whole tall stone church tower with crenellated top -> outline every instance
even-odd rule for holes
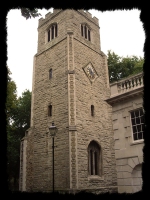
[[[20,190],[117,191],[107,58],[99,22],[83,10],[56,10],[39,20],[31,128],[21,143]]]

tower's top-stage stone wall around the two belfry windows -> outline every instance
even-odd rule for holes
[[[78,38],[81,42],[86,43],[87,45],[100,50],[100,37],[99,37],[99,25],[98,19],[94,19],[92,17],[87,18],[85,12],[79,10],[64,10],[59,11],[59,14],[56,14],[55,17],[52,17],[51,20],[46,20],[42,23],[38,28],[38,49],[37,52],[40,53],[43,50],[48,49],[49,47],[57,44],[62,39],[66,38],[67,31],[71,30],[74,33],[74,36]],[[46,41],[46,30],[52,23],[57,23],[58,25],[58,36],[55,40],[51,42]],[[84,40],[81,36],[81,23],[87,23],[91,28],[91,41]]]

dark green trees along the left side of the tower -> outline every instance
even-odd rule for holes
[[[7,84],[7,173],[8,184],[11,190],[18,189],[20,166],[20,141],[25,131],[30,127],[31,92],[25,90],[17,98],[16,84],[10,77],[8,69]],[[13,180],[13,184],[11,182]],[[15,188],[16,187],[16,188]]]

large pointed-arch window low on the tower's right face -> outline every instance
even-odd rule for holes
[[[89,175],[102,175],[101,147],[95,141],[88,146]]]

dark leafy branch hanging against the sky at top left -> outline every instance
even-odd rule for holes
[[[29,19],[31,17],[38,17],[40,16],[41,14],[38,13],[38,9],[29,9],[29,8],[21,8],[21,14],[23,17],[25,17],[26,19]]]

